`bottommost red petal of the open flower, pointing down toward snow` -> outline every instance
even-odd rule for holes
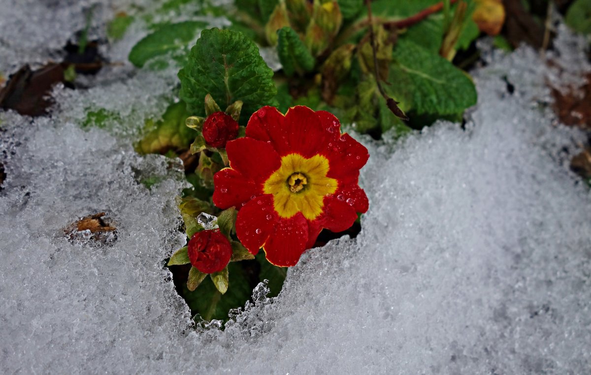
[[[301,213],[280,219],[275,230],[264,245],[267,260],[275,266],[295,266],[306,251],[308,242],[308,222]]]

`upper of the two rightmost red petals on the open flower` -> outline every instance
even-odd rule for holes
[[[369,158],[368,149],[347,133],[340,136],[332,145],[326,145],[322,154],[330,163],[327,176],[336,178],[339,182],[357,182],[359,169]]]

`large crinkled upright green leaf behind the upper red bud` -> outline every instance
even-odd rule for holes
[[[180,97],[198,116],[205,114],[203,99],[208,93],[222,106],[242,100],[246,120],[260,107],[273,105],[277,93],[273,71],[256,45],[233,30],[204,30],[178,77]]]

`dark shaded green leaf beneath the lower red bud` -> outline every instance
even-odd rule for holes
[[[199,314],[203,319],[228,320],[228,311],[233,308],[244,306],[244,303],[251,298],[252,288],[248,281],[242,263],[230,263],[229,288],[225,294],[217,291],[211,278],[206,278],[194,292],[189,292],[186,287],[181,289],[181,294],[192,314]]]

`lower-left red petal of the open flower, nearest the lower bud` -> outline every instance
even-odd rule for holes
[[[277,219],[273,196],[261,195],[246,203],[238,212],[236,236],[249,252],[256,255],[272,233]]]

